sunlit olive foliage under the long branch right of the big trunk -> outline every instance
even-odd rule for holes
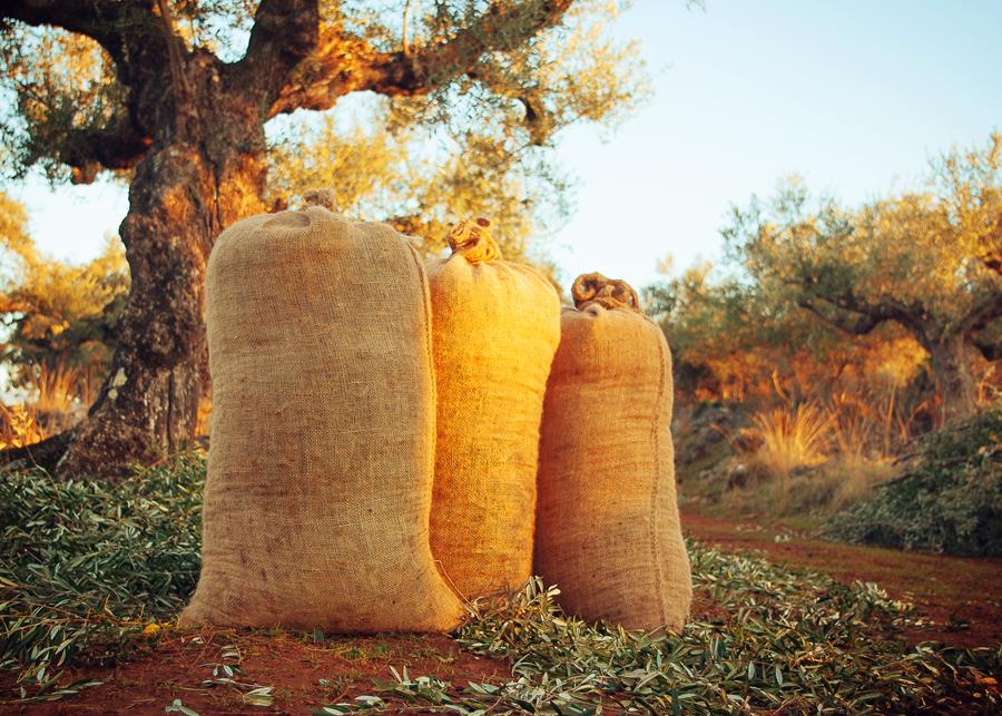
[[[540,259],[532,237],[570,205],[557,133],[580,121],[615,126],[647,95],[638,48],[608,37],[620,10],[572,6],[560,28],[428,96],[369,97],[351,114],[275,126],[273,200],[331,187],[340,209],[389,220],[425,251],[442,249],[453,222],[488,216],[505,256]],[[440,31],[440,18],[424,20],[409,43]]]

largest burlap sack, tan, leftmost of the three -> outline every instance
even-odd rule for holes
[[[183,625],[448,631],[429,543],[423,264],[382,224],[254,216],[206,277],[214,383],[202,578]]]

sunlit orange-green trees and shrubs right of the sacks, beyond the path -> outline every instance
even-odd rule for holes
[[[736,208],[723,265],[647,293],[682,384],[700,399],[855,395],[895,431],[931,403],[962,415],[990,396],[1002,349],[1000,146],[994,135],[950,151],[921,190],[859,207],[793,179]]]

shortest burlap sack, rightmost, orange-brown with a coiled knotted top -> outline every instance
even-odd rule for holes
[[[623,282],[586,274],[572,294],[543,409],[534,570],[583,619],[678,630],[692,585],[668,344]]]

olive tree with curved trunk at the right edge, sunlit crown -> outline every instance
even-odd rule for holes
[[[1000,356],[1002,136],[945,155],[926,190],[846,208],[813,207],[803,184],[735,209],[724,235],[763,295],[839,331],[894,322],[929,353],[946,420],[971,413],[973,352]],[[812,208],[813,207],[813,208]]]

